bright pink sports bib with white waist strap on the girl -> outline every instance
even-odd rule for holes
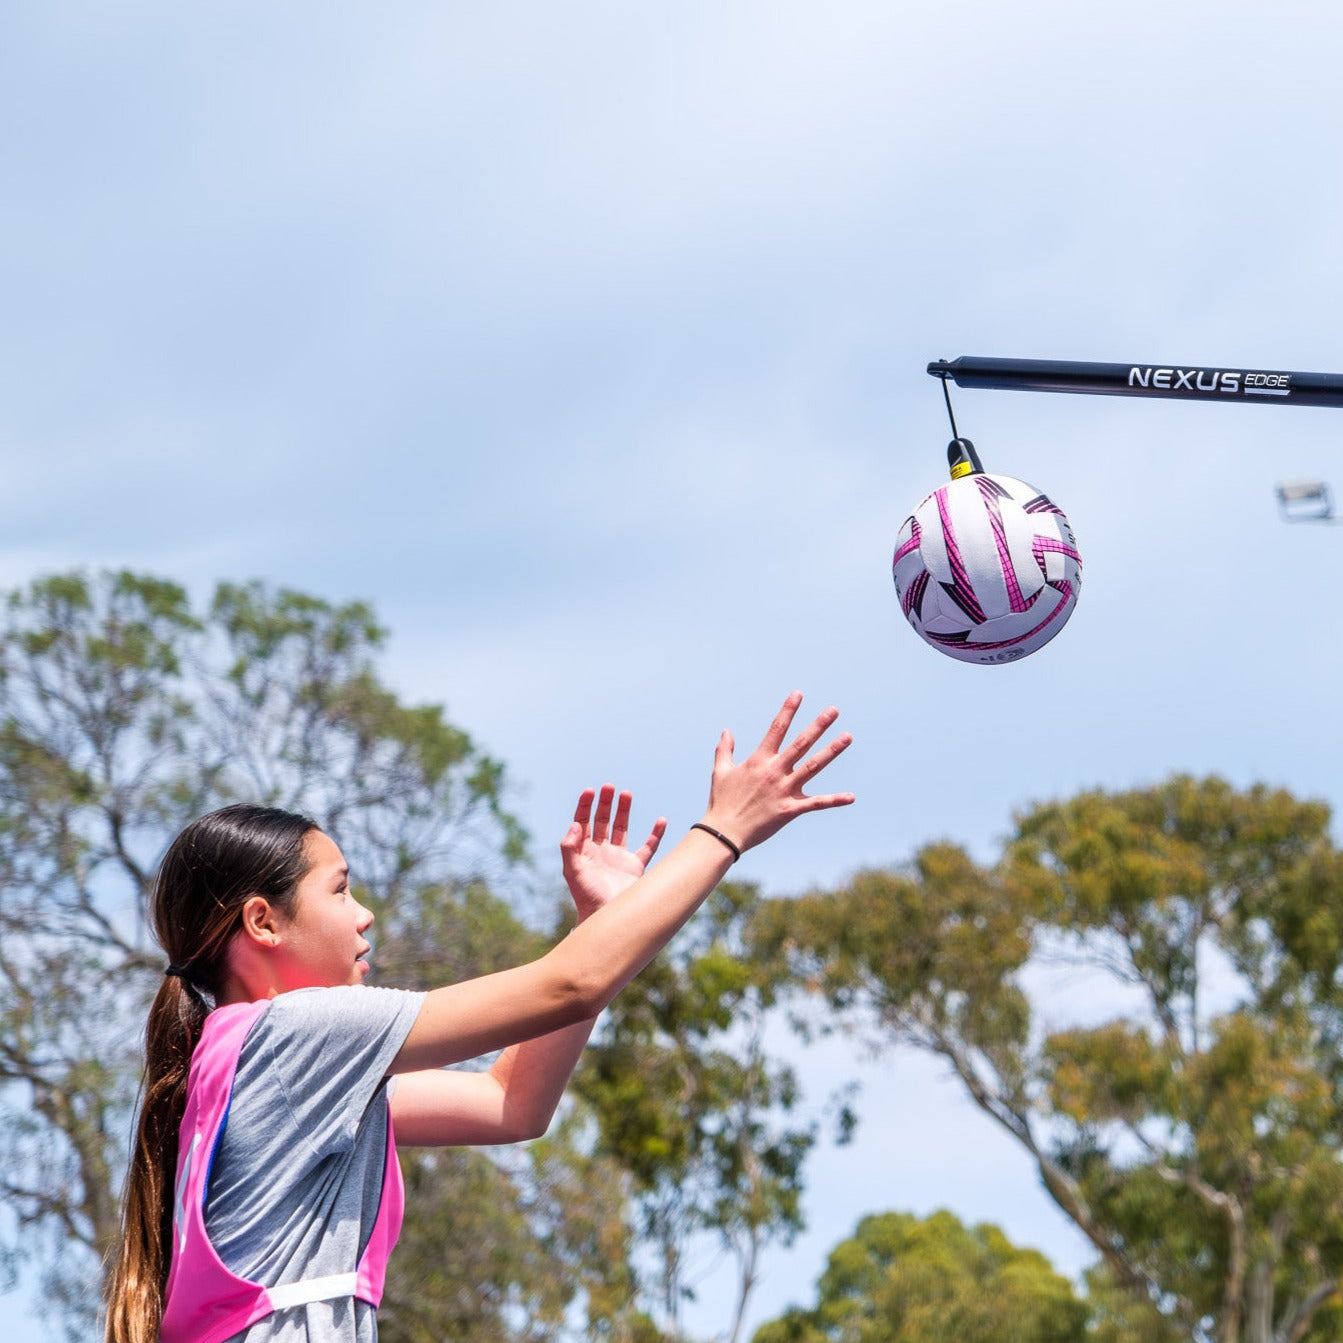
[[[231,1273],[205,1234],[205,1191],[232,1097],[243,1041],[266,1002],[234,1003],[205,1018],[187,1078],[187,1113],[177,1139],[173,1186],[172,1268],[164,1297],[160,1343],[223,1343],[273,1311],[351,1296],[376,1307],[387,1260],[402,1230],[406,1190],[387,1116],[387,1168],[373,1234],[348,1273],[266,1287]]]

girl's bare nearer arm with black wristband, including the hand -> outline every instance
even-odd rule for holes
[[[790,694],[760,745],[740,764],[732,733],[713,757],[700,825],[649,873],[580,923],[539,960],[432,990],[392,1072],[442,1068],[532,1039],[599,1011],[666,945],[733,862],[808,811],[849,806],[851,792],[803,794],[850,744],[841,733],[813,749],[839,716],[826,709],[787,745],[802,704]]]

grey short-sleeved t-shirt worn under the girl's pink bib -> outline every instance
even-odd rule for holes
[[[278,1287],[359,1262],[383,1190],[387,1069],[423,999],[302,988],[251,1029],[205,1195],[205,1229],[231,1272]],[[230,1343],[376,1338],[373,1308],[346,1297],[275,1311]]]

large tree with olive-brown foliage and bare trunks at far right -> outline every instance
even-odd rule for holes
[[[1172,778],[770,901],[757,945],[878,1042],[940,1056],[1109,1279],[1183,1338],[1343,1338],[1343,855],[1328,811]],[[1072,974],[1044,1009],[1027,972]],[[1078,976],[1086,976],[1086,988]],[[1107,990],[1108,986],[1108,990]],[[1119,1005],[1101,1021],[1068,1003]]]

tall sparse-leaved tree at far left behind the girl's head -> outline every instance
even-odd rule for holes
[[[361,603],[262,584],[220,584],[199,610],[163,579],[67,573],[4,602],[4,1254],[42,1272],[73,1338],[91,1332],[90,1284],[117,1241],[140,1037],[163,972],[146,886],[187,819],[242,798],[313,815],[384,911],[384,972],[400,956],[414,976],[426,947],[442,972],[431,911],[441,932],[451,919],[474,929],[453,943],[451,972],[488,968],[517,931],[485,885],[524,846],[502,770],[441,708],[381,684],[383,638]]]

